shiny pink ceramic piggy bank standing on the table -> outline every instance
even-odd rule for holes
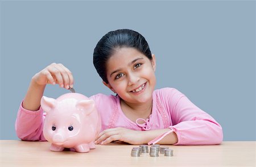
[[[79,93],[67,93],[57,99],[42,97],[46,112],[43,134],[51,143],[51,151],[64,148],[89,152],[101,130],[101,118],[95,102]]]

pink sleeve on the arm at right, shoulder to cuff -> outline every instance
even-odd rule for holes
[[[222,128],[199,107],[194,105],[184,94],[176,89],[171,89],[168,94],[168,107],[173,126],[177,134],[176,145],[207,145],[220,144],[223,139]],[[165,93],[170,91],[165,91]]]

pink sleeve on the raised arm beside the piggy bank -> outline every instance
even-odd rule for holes
[[[23,102],[22,102],[23,103]],[[26,110],[20,104],[16,122],[15,131],[19,139],[28,141],[46,141],[43,136],[44,117],[43,109],[38,111]]]

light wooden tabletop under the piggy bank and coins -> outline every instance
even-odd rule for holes
[[[173,157],[131,157],[138,146],[123,143],[96,145],[89,153],[52,152],[47,141],[0,140],[0,145],[0,166],[256,166],[256,141],[164,145],[174,149]]]

